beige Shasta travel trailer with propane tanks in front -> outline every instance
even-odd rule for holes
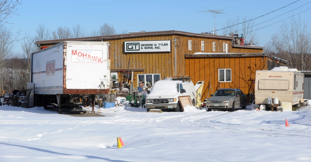
[[[268,97],[277,97],[281,104],[284,102],[300,106],[304,100],[304,74],[297,70],[291,71],[288,67],[274,69],[279,71],[256,71],[255,104],[270,107]]]

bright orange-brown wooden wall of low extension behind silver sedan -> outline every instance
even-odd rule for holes
[[[186,75],[193,78],[193,82],[205,81],[202,101],[219,88],[239,88],[245,94],[254,92],[252,79],[255,79],[256,70],[266,70],[265,56],[248,57],[187,57]],[[232,82],[218,82],[218,69],[231,69]]]

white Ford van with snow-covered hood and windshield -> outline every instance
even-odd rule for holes
[[[190,79],[164,79],[154,83],[147,96],[146,108],[182,111],[179,96],[190,96],[193,106],[196,105],[196,89]]]

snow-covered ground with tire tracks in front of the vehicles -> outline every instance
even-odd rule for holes
[[[100,112],[75,117],[0,106],[0,161],[311,161],[310,105],[283,112]]]

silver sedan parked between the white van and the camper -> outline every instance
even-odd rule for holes
[[[247,97],[237,88],[218,89],[211,97],[206,100],[207,111],[212,109],[230,109],[242,107],[246,109]]]

